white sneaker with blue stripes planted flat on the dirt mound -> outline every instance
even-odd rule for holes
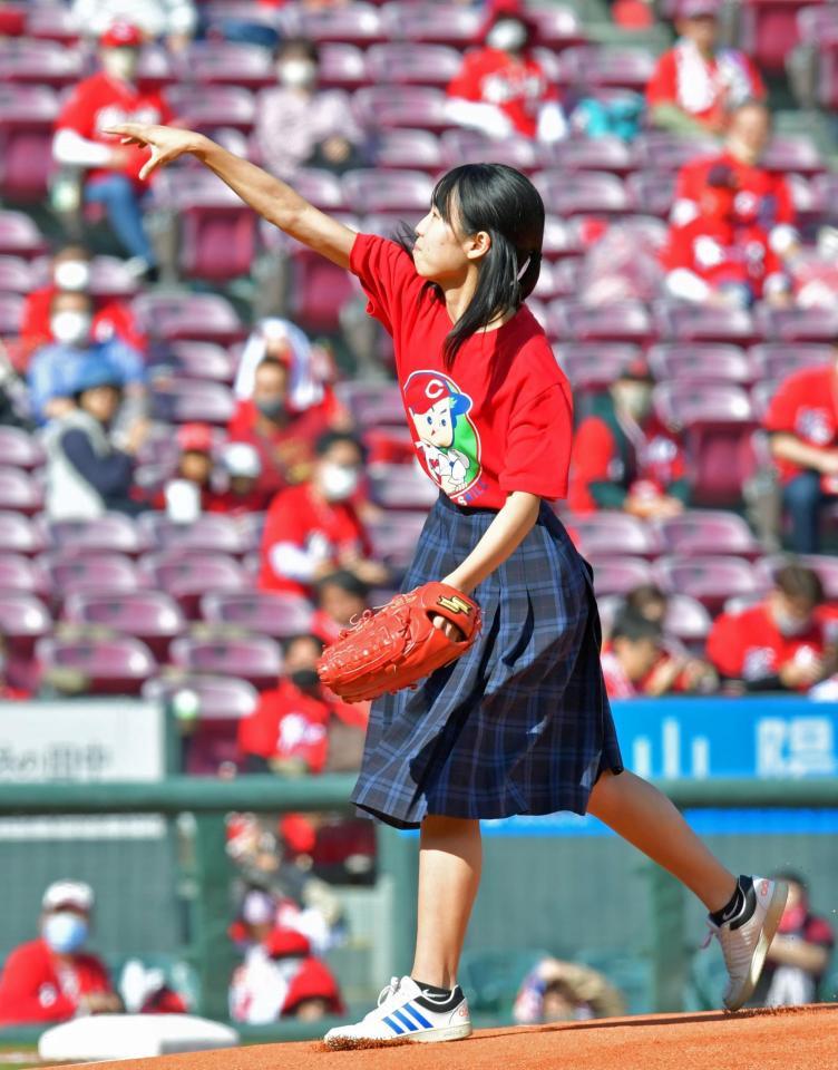
[[[412,977],[393,977],[381,990],[374,1011],[355,1025],[330,1029],[323,1040],[330,1048],[362,1048],[370,1042],[462,1040],[471,1033],[468,1003],[459,985],[444,1010],[435,1009],[435,1002],[439,1001],[423,993]]]

